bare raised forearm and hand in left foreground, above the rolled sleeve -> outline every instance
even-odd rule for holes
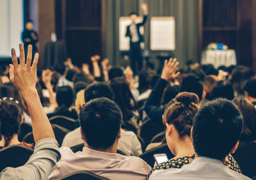
[[[13,85],[19,89],[22,97],[28,106],[28,111],[32,119],[33,138],[37,142],[42,138],[55,138],[51,124],[45,115],[39,95],[36,91],[36,67],[39,54],[35,54],[33,65],[32,45],[28,45],[27,62],[25,63],[25,52],[23,44],[19,44],[19,62],[16,57],[16,51],[12,49],[13,65],[10,65],[10,80]]]

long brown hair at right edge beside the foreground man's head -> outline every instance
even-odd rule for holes
[[[256,109],[246,98],[236,97],[232,100],[243,114],[243,131],[241,141],[256,139]]]

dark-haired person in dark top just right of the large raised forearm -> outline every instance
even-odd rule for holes
[[[48,114],[48,118],[52,118],[56,115],[63,115],[68,118],[77,120],[77,112],[72,109],[74,102],[74,90],[70,86],[61,86],[57,89],[56,100],[58,107],[54,113]]]

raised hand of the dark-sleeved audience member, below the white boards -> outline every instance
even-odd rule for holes
[[[161,71],[161,79],[168,81],[178,77],[179,72],[176,72],[178,69],[178,65],[179,65],[179,62],[176,60],[176,58],[174,59],[170,58],[169,61],[165,60],[163,71]]]

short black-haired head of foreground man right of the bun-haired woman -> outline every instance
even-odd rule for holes
[[[243,115],[234,103],[216,99],[202,106],[193,120],[193,147],[197,155],[223,160],[240,138]]]

